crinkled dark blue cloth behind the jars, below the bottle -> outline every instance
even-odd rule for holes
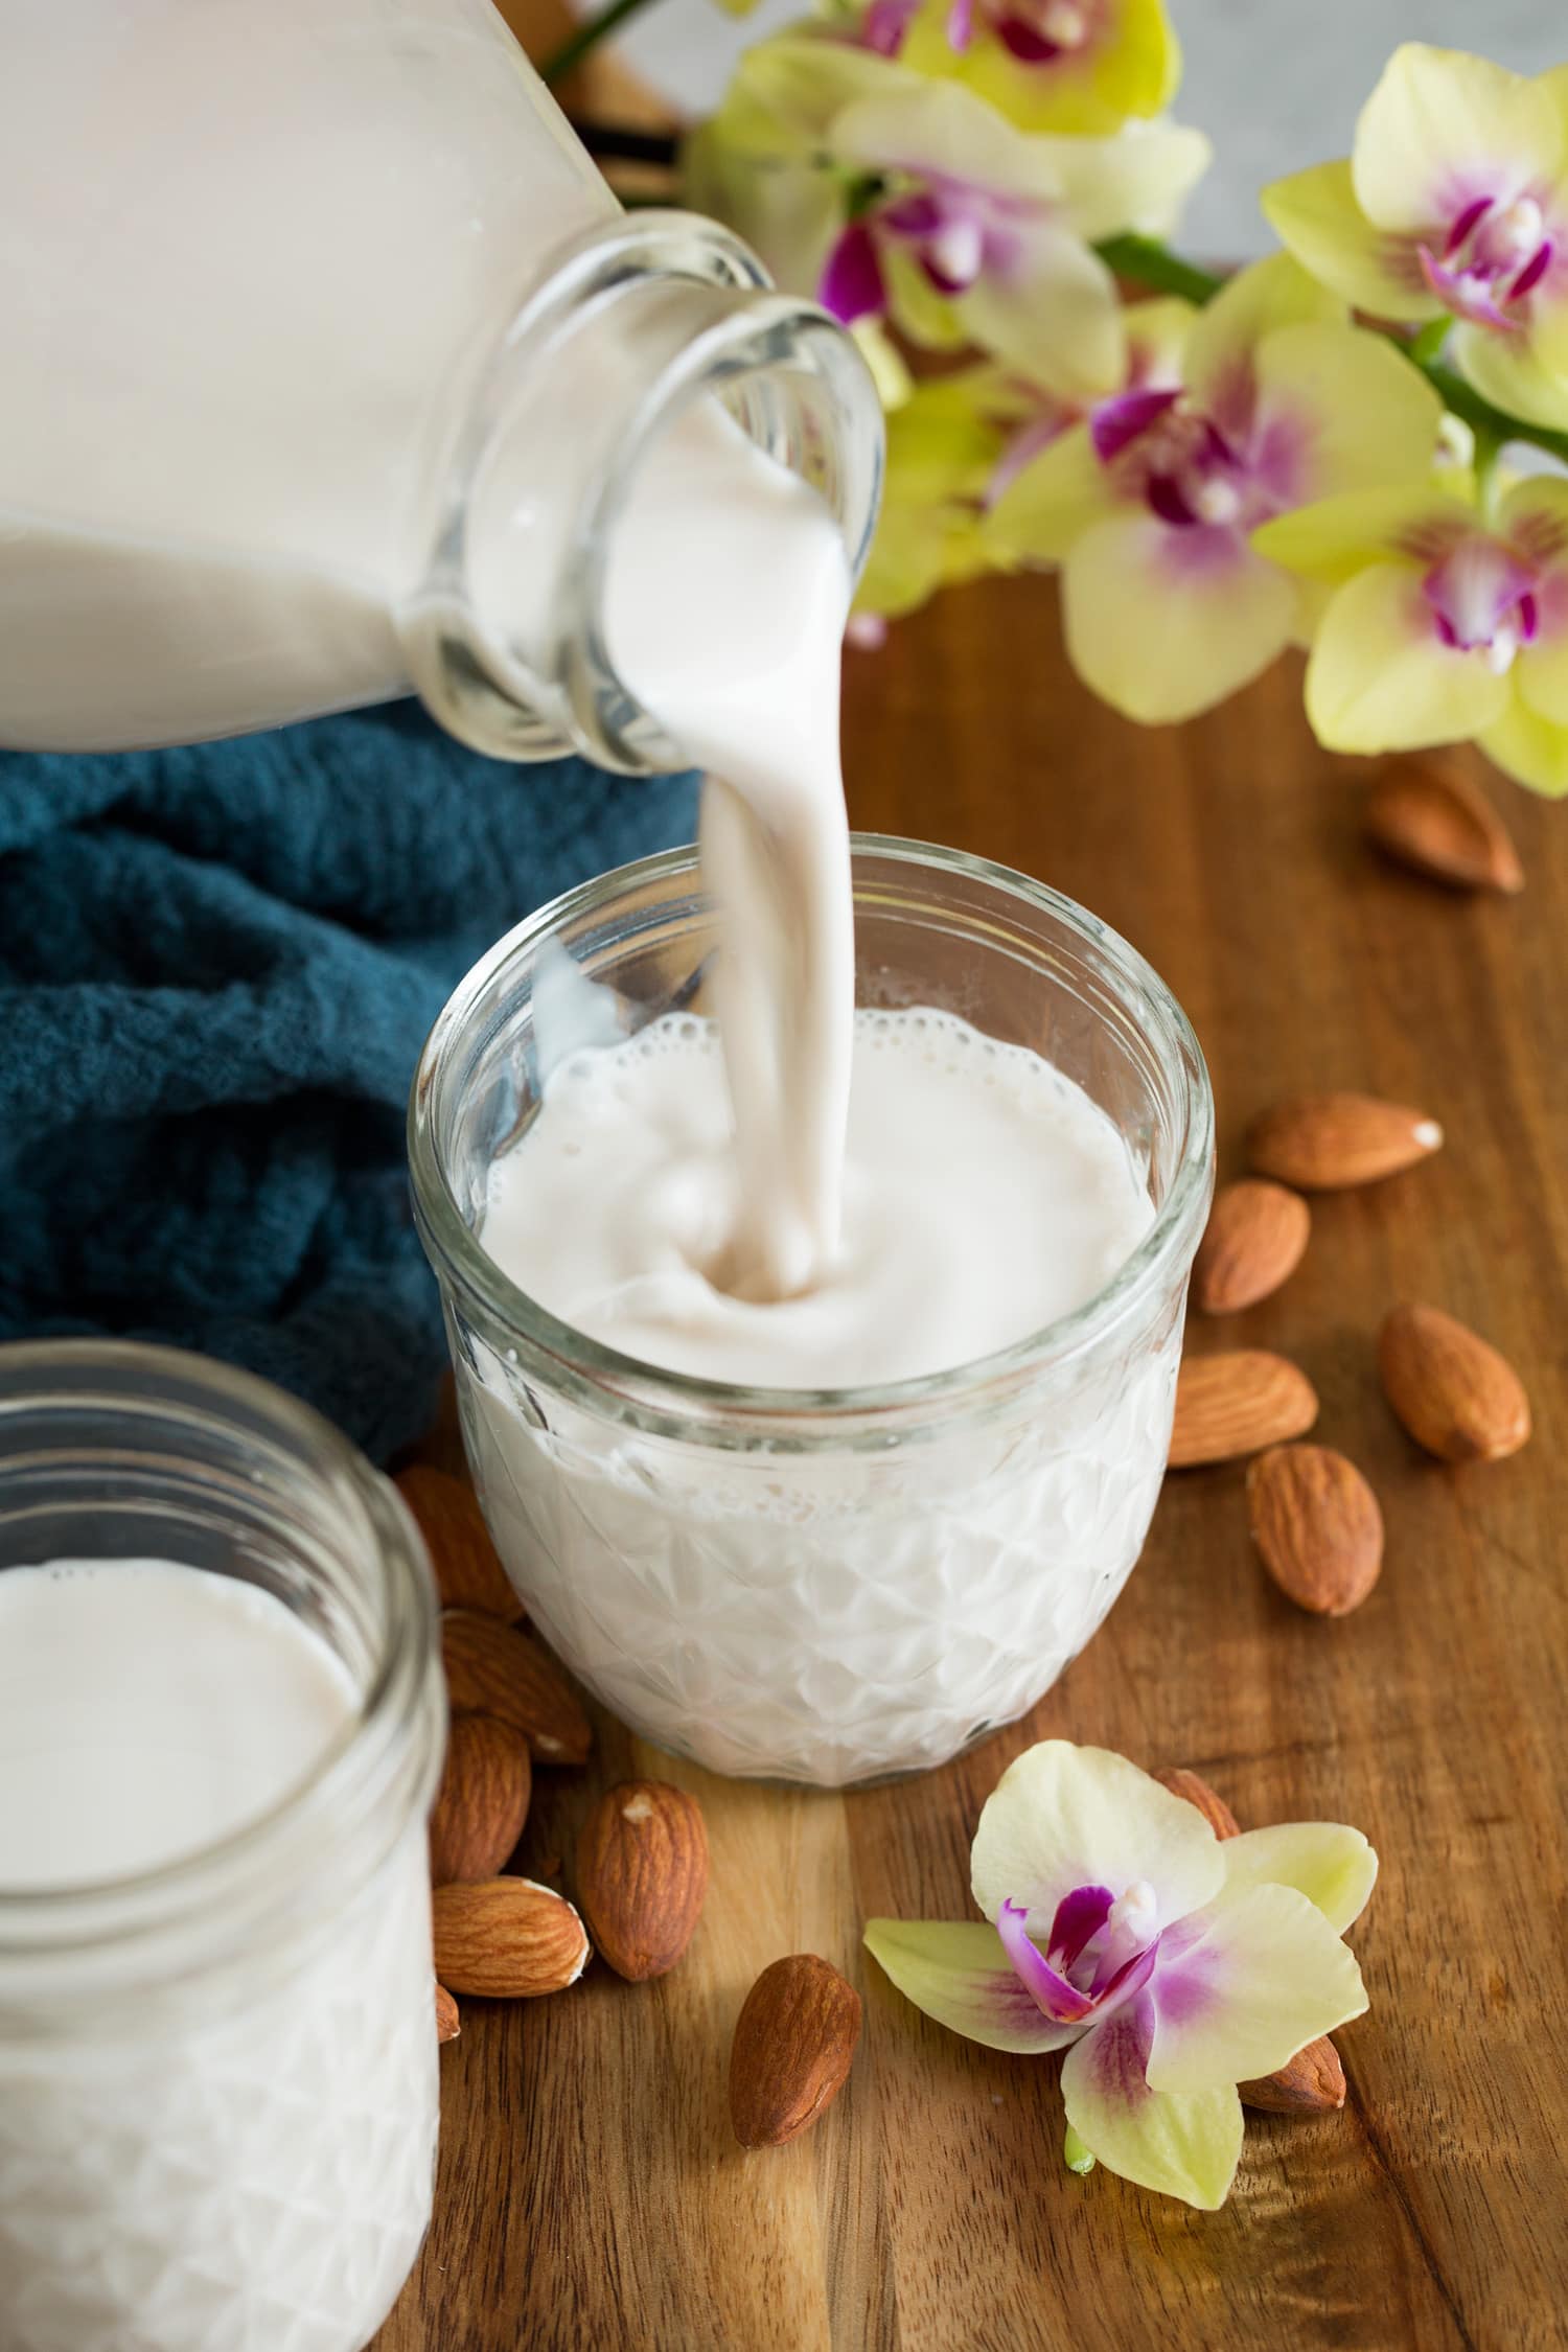
[[[200,1348],[378,1461],[411,1442],[444,1362],[423,1035],[512,922],[693,821],[691,776],[482,760],[414,703],[0,753],[0,1338]]]

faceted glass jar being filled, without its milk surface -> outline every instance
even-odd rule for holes
[[[844,1785],[1023,1715],[1121,1590],[1171,1439],[1213,1105],[1166,985],[1056,891],[856,837],[856,993],[1034,1047],[1114,1120],[1157,1207],[1074,1315],[933,1378],[752,1390],[559,1324],[484,1254],[487,1171],[541,1096],[534,976],[569,953],[628,1030],[703,1009],[696,851],[520,924],[461,983],[409,1112],[463,1439],[512,1583],[567,1665],[661,1748]]]

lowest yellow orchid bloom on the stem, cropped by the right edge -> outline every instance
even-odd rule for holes
[[[1528,477],[1490,510],[1420,487],[1328,499],[1258,548],[1328,590],[1307,717],[1331,750],[1474,736],[1568,793],[1568,482]]]

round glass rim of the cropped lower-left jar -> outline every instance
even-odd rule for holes
[[[176,1929],[200,1907],[202,1889],[212,1879],[247,1870],[252,1858],[266,1858],[296,1830],[308,1832],[313,1816],[327,1825],[341,1818],[341,1806],[367,1804],[367,1785],[378,1764],[418,1722],[437,1628],[423,1543],[402,1498],[390,1479],[383,1479],[360,1449],[301,1397],[193,1348],[148,1341],[9,1341],[0,1345],[0,1383],[12,1374],[28,1381],[28,1390],[0,1392],[0,1430],[14,1414],[33,1416],[66,1406],[158,1414],[188,1428],[205,1425],[252,1437],[252,1423],[240,1418],[240,1409],[247,1409],[266,1432],[259,1442],[282,1439],[296,1451],[306,1475],[320,1477],[322,1484],[343,1479],[353,1491],[367,1515],[367,1534],[388,1585],[388,1609],[364,1691],[357,1693],[343,1731],[310,1771],[263,1813],[143,1870],[47,1886],[0,1882],[0,1969]],[[85,1385],[71,1381],[71,1374],[99,1378]],[[129,1385],[136,1374],[143,1381],[150,1376],[148,1388]],[[2,1482],[5,1456],[0,1456],[0,1491]],[[5,1573],[0,1569],[0,1576]],[[21,1929],[24,1938],[12,1940],[9,1929]],[[49,1933],[52,1929],[59,1933]],[[87,1933],[80,1933],[82,1929]]]

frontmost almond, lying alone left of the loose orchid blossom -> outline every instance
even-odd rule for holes
[[[729,2114],[741,2147],[783,2147],[844,2089],[860,2039],[860,1994],[816,1952],[764,1969],[729,2053]]]

